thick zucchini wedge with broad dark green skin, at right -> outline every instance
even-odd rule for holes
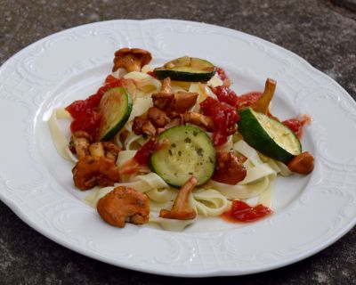
[[[251,108],[240,111],[239,116],[239,133],[265,156],[287,162],[302,152],[295,133],[279,121]]]

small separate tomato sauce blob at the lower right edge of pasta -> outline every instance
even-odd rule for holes
[[[231,209],[221,216],[225,221],[231,223],[250,223],[263,219],[271,213],[273,213],[271,208],[262,204],[251,207],[246,202],[237,199],[232,202]]]

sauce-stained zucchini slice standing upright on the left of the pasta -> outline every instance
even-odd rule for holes
[[[117,134],[125,126],[132,109],[131,96],[124,87],[109,89],[102,96],[99,104],[99,110],[101,111],[99,140],[109,141]]]

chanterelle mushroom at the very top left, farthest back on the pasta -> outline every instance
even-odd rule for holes
[[[148,64],[151,59],[150,52],[146,50],[124,47],[115,53],[112,71],[114,72],[119,68],[126,69],[127,72],[140,71],[142,66]]]

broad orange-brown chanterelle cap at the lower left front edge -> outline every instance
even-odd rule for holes
[[[98,201],[97,210],[101,218],[112,225],[123,228],[125,221],[146,224],[150,218],[147,196],[133,188],[118,186]]]

